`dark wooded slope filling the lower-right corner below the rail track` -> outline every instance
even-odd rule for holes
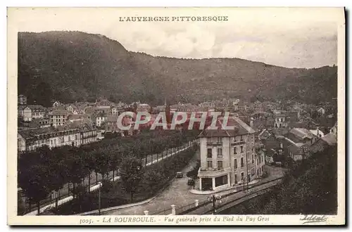
[[[337,147],[298,162],[273,191],[221,214],[337,214]]]

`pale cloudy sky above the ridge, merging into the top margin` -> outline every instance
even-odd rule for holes
[[[243,58],[283,67],[337,64],[341,8],[17,8],[19,32],[103,34],[128,51],[175,58]],[[218,22],[121,22],[134,16],[227,16]]]

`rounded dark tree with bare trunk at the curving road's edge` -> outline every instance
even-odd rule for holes
[[[133,202],[133,195],[136,193],[139,182],[142,181],[144,168],[141,160],[132,154],[122,157],[120,165],[120,176],[122,186],[131,195],[131,202]]]

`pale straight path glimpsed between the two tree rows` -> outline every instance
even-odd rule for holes
[[[196,140],[193,141],[193,142],[196,142]],[[165,159],[167,159],[168,157],[171,157],[171,156],[176,155],[176,154],[178,154],[178,153],[180,153],[180,152],[182,152],[182,151],[184,151],[184,150],[187,150],[188,148],[191,148],[191,146],[193,146],[193,144],[191,144],[190,146],[187,146],[187,147],[185,147],[185,148],[180,148],[179,150],[175,151],[174,153],[170,153],[168,156],[163,155],[163,158],[161,158],[161,155],[158,155],[158,160],[155,159],[155,160],[153,160],[153,162],[147,163],[146,166],[150,166],[150,165],[152,165],[152,164],[154,164],[154,163],[156,163],[156,162],[160,162],[161,160],[165,160]],[[156,156],[156,155],[155,155],[155,156]],[[150,159],[150,160],[151,160],[151,159]],[[111,172],[111,173],[112,173],[112,172]],[[95,176],[95,175],[94,175],[94,176]],[[120,179],[120,176],[115,176],[115,177],[114,177],[114,180],[118,180],[118,179]],[[111,179],[111,181],[113,181],[113,179]],[[92,184],[92,183],[94,183],[94,182],[91,181],[91,184]],[[97,184],[95,184],[95,185],[93,185],[93,186],[90,187],[90,191],[95,191],[96,189],[99,189],[100,187],[101,187],[101,182],[99,181]],[[61,200],[58,200],[58,205],[63,205],[65,202],[69,202],[69,201],[71,201],[71,200],[73,200],[73,196],[72,196],[72,195],[70,195],[70,196],[68,196],[68,197],[66,197],[66,198],[63,198],[63,199],[61,199]],[[49,204],[49,205],[46,205],[46,206],[44,206],[44,207],[41,207],[40,210],[39,210],[39,212],[42,213],[42,212],[45,212],[46,210],[50,210],[51,208],[54,208],[54,207],[56,207],[56,203],[55,203],[55,202],[54,202],[54,203],[51,203],[51,204]],[[37,215],[37,212],[38,212],[38,210],[33,210],[32,212],[30,212],[30,213],[28,213],[28,214],[25,214],[25,216]]]

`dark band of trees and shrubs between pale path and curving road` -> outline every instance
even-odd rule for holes
[[[81,193],[72,202],[52,209],[51,212],[57,215],[72,215],[97,210],[99,205],[103,209],[151,198],[170,184],[176,172],[188,165],[197,149],[195,143],[191,148],[148,167],[144,167],[136,157],[126,155],[121,160],[118,181],[105,179],[100,194]]]

